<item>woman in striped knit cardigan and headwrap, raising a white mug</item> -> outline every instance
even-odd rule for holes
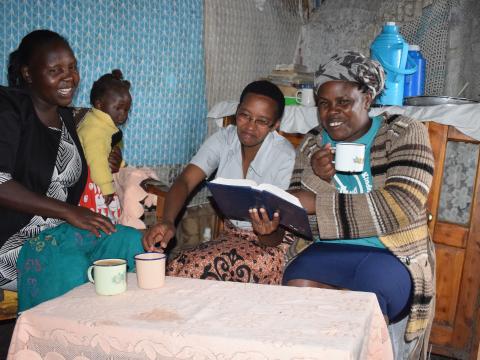
[[[380,64],[355,52],[333,56],[316,72],[320,126],[300,145],[290,191],[315,214],[317,236],[290,262],[283,283],[375,293],[387,322],[405,326],[400,338],[410,351],[394,349],[398,358],[418,359],[434,315],[435,255],[425,208],[433,155],[420,122],[369,117],[383,86]],[[340,142],[365,146],[363,171],[335,169],[332,147]],[[257,232],[281,238],[281,230],[262,231],[261,223],[252,223]]]

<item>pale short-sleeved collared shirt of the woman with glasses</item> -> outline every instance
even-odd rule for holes
[[[210,136],[200,147],[190,164],[198,166],[209,177],[243,179],[242,151],[237,127],[230,125]],[[287,189],[290,184],[295,150],[283,136],[270,132],[247,170],[247,179],[257,184],[267,183]],[[249,222],[235,222],[242,228],[251,228]]]

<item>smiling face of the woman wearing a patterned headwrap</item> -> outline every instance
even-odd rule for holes
[[[335,141],[355,141],[370,129],[370,94],[347,81],[328,81],[318,89],[317,107],[322,127]]]

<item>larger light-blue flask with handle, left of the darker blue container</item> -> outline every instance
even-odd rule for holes
[[[375,103],[381,105],[403,105],[405,75],[417,71],[417,66],[408,57],[408,44],[400,35],[394,22],[387,22],[382,32],[370,46],[371,58],[382,64],[385,73],[385,89]],[[407,68],[407,62],[409,67]]]

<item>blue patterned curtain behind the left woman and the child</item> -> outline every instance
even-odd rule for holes
[[[206,132],[201,0],[3,0],[2,84],[8,54],[28,32],[64,35],[82,77],[75,105],[114,68],[132,83],[124,157],[132,165],[188,162]]]

